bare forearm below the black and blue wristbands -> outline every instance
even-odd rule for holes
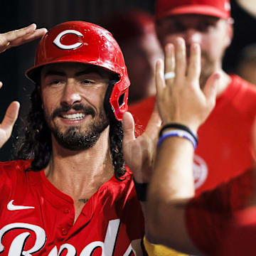
[[[194,196],[193,145],[187,139],[169,137],[156,156],[146,206],[146,235],[183,252],[197,252],[186,233],[184,212]]]

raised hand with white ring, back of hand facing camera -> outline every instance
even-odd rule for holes
[[[193,43],[187,63],[186,45],[177,38],[175,45],[166,46],[165,67],[156,62],[156,102],[164,124],[177,122],[197,132],[215,106],[215,97],[220,74],[214,73],[201,90],[201,48]],[[175,74],[164,78],[164,73]]]

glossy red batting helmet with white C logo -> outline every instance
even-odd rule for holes
[[[110,105],[117,120],[128,110],[129,78],[122,51],[105,28],[85,21],[68,21],[53,27],[41,39],[36,50],[35,65],[26,76],[36,82],[38,70],[50,63],[75,62],[96,65],[119,75]],[[121,101],[121,102],[120,102]]]

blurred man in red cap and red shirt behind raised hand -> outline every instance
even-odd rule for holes
[[[212,73],[222,75],[215,108],[198,129],[201,143],[195,152],[193,174],[199,194],[251,166],[250,131],[256,114],[256,89],[222,69],[223,53],[233,36],[228,0],[157,0],[155,18],[163,48],[181,37],[186,41],[189,58],[191,44],[201,46],[202,88]],[[144,131],[153,107],[154,97],[130,107],[138,134]]]

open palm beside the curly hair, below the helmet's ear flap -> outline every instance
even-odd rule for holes
[[[160,126],[161,119],[155,105],[145,132],[135,138],[132,114],[129,112],[124,113],[124,160],[125,164],[133,172],[134,178],[138,183],[147,183],[150,181]]]

